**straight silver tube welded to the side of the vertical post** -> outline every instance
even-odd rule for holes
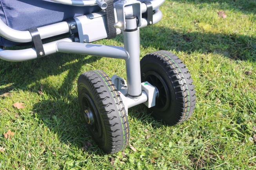
[[[89,43],[59,42],[56,45],[58,52],[95,55],[117,59],[129,59],[129,54],[123,47],[111,45],[98,45]]]

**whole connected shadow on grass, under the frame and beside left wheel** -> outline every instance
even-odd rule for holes
[[[42,90],[47,98],[33,105],[32,111],[38,119],[52,132],[57,134],[60,141],[71,144],[76,148],[88,149],[88,152],[101,155],[102,151],[96,146],[87,133],[87,129],[79,114],[77,96],[73,96],[74,81],[83,67],[101,57],[86,57],[85,55],[71,55],[56,53],[39,59],[23,62],[0,61],[0,95],[13,89],[28,90],[37,93]],[[91,67],[91,66],[89,66]],[[87,68],[84,68],[86,70]],[[44,79],[65,73],[65,78],[58,81],[44,81]],[[64,76],[62,76],[64,77]],[[53,77],[53,79],[56,79]],[[41,84],[41,82],[43,82]],[[56,82],[56,84],[54,84]],[[61,82],[61,84],[58,84]],[[91,147],[95,147],[90,149]],[[91,150],[91,151],[90,151]]]

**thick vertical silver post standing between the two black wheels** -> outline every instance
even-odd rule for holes
[[[142,95],[140,78],[140,34],[135,15],[125,16],[126,29],[123,31],[123,43],[129,53],[126,60],[128,97],[137,98]]]

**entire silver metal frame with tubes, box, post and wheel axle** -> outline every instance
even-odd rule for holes
[[[60,3],[65,2],[65,4],[68,5],[77,5],[73,4],[74,0],[53,1]],[[99,1],[103,3],[102,0],[89,1],[90,3],[96,3]],[[75,0],[75,2],[79,3],[89,3],[89,1]],[[153,15],[153,24],[157,23],[162,18],[162,12],[157,8],[162,5],[163,2],[165,2],[165,0],[151,1],[153,10],[155,10]],[[127,110],[129,107],[133,107],[141,103],[145,103],[147,107],[152,107],[158,97],[158,90],[149,83],[142,83],[140,77],[139,29],[148,25],[147,19],[142,18],[142,13],[145,13],[146,11],[147,5],[137,0],[119,0],[116,2],[116,8],[114,9],[116,20],[115,26],[118,27],[116,29],[117,34],[123,33],[124,47],[89,44],[92,41],[107,38],[105,12],[100,11],[98,13],[74,18],[78,27],[80,43],[72,42],[71,38],[64,38],[51,43],[46,43],[43,45],[45,55],[64,52],[125,59],[127,88],[123,88],[121,90],[118,89],[120,90],[121,97],[125,104],[125,109]],[[68,33],[71,29],[71,26],[69,26],[66,21],[37,28],[42,39]],[[5,25],[2,20],[0,20],[0,36],[19,43],[32,41],[32,36],[29,31],[11,29]],[[5,50],[0,48],[0,59],[7,61],[25,61],[36,59],[37,56],[35,48],[24,50]],[[116,79],[119,79],[119,77],[116,77]]]

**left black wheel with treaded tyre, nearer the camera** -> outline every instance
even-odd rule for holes
[[[109,76],[101,70],[78,78],[78,102],[89,133],[106,154],[124,149],[129,123],[122,98]]]

